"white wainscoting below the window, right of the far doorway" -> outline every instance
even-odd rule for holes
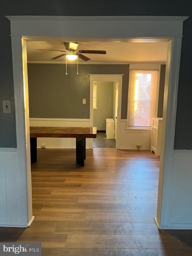
[[[151,130],[127,130],[127,120],[122,119],[120,125],[120,149],[137,149],[136,144],[141,145],[141,150],[149,150],[151,146]]]

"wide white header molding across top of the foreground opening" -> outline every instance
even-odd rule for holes
[[[6,16],[12,36],[60,36],[82,38],[182,37],[188,17],[174,16]],[[41,24],[41,26],[39,26]],[[86,28],[86,30],[84,29]],[[112,36],[113,35],[113,36]],[[66,38],[66,39],[64,39]]]

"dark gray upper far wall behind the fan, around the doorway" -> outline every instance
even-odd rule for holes
[[[127,116],[129,65],[28,64],[30,117],[89,118],[89,74],[124,74],[121,118]],[[86,104],[82,99],[86,98]]]

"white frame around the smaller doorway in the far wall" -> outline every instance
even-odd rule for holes
[[[120,125],[121,125],[121,98],[123,74],[89,74],[90,75],[90,126],[93,126],[93,82],[118,82],[118,110],[117,110],[117,139],[116,148],[120,148]],[[90,140],[90,148],[93,148],[93,140]]]

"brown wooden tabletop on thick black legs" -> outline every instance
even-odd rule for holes
[[[38,127],[30,126],[30,137],[96,138],[96,127]]]

